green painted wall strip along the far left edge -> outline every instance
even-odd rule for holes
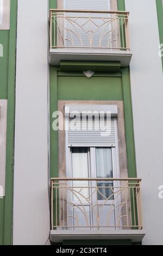
[[[5,198],[0,199],[0,245],[12,243],[17,0],[11,0],[10,30],[0,31],[0,99],[8,99]]]

